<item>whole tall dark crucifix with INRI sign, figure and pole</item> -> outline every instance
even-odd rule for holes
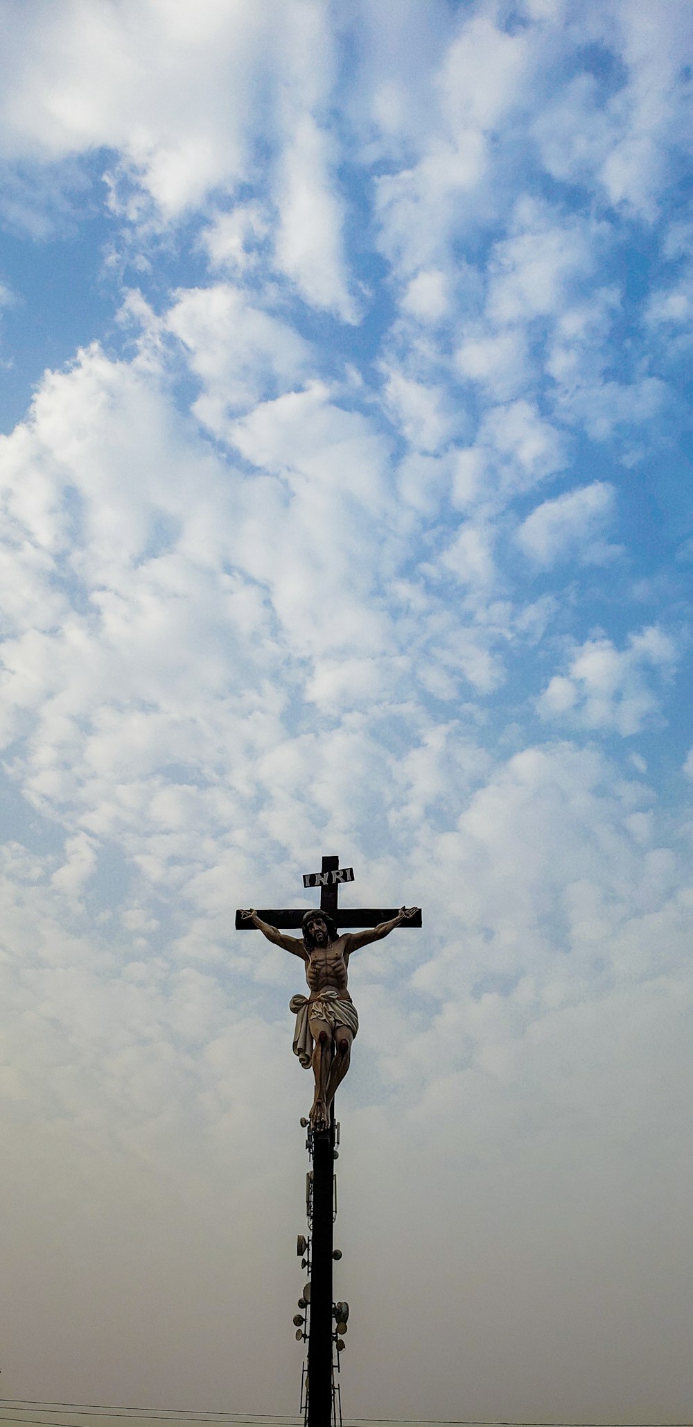
[[[349,1067],[351,1045],[358,1030],[356,1009],[346,989],[349,956],[361,946],[389,936],[398,926],[421,926],[419,908],[341,908],[339,886],[348,882],[354,882],[352,869],[339,868],[337,856],[324,856],[321,872],[304,873],[304,886],[319,886],[319,908],[272,908],[262,912],[251,909],[235,913],[238,932],[255,928],[275,946],[282,946],[301,958],[309,987],[309,996],[292,996],[289,1002],[289,1009],[297,1017],[294,1053],[305,1069],[312,1067],[315,1077],[309,1120],[301,1120],[304,1126],[308,1124],[308,1152],[312,1159],[308,1196],[311,1279],[307,1284],[309,1290],[307,1427],[329,1427],[337,1417],[332,1340],[337,1341],[338,1350],[344,1347],[332,1333],[337,1157],[334,1097]],[[301,928],[302,936],[285,936],[289,928]],[[341,932],[341,928],[359,928],[359,930]],[[301,1299],[301,1304],[307,1306],[307,1300]],[[304,1336],[301,1330],[297,1333],[297,1337],[299,1336]]]

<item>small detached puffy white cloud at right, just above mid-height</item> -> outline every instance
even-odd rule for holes
[[[652,625],[629,635],[625,649],[607,638],[587,639],[538,699],[542,718],[568,718],[586,729],[627,738],[660,718],[662,701],[652,674],[666,679],[676,666],[673,639]]]

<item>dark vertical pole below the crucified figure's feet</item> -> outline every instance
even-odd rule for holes
[[[308,1336],[308,1427],[332,1423],[332,1229],[335,1110],[329,1130],[312,1136],[311,1324]]]

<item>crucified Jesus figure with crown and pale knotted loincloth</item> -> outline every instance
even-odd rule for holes
[[[305,965],[309,996],[292,996],[289,1010],[295,1013],[294,1055],[301,1065],[312,1066],[315,1096],[311,1109],[314,1130],[329,1127],[329,1107],[337,1086],[349,1069],[351,1043],[358,1030],[356,1007],[346,990],[349,956],[369,942],[389,936],[402,922],[415,916],[418,908],[402,906],[391,922],[366,932],[344,932],[341,936],[328,912],[307,912],[302,936],[285,936],[275,926],[262,922],[255,910],[242,912],[247,922],[275,946],[284,946]]]

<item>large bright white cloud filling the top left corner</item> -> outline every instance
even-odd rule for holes
[[[6,151],[56,158],[120,148],[154,201],[175,214],[242,176],[248,78],[278,20],[279,11],[225,11],[214,0],[200,6],[195,26],[180,7],[151,0],[101,11],[70,0],[51,16],[30,7],[21,23],[14,17],[20,63],[4,93]]]

